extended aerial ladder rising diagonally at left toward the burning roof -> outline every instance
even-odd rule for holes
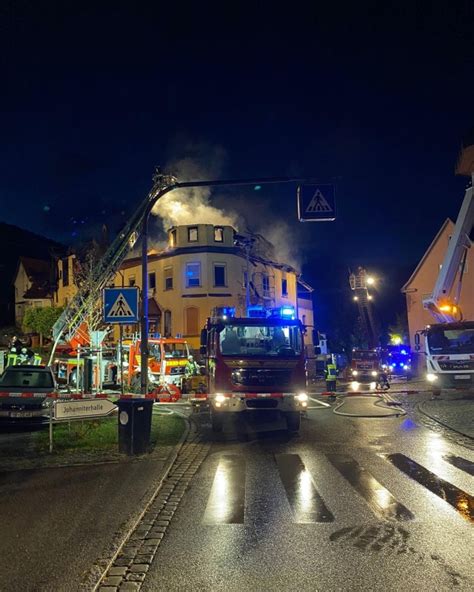
[[[60,339],[63,338],[67,341],[71,341],[81,332],[81,326],[84,325],[88,311],[90,311],[91,308],[98,306],[102,289],[113,280],[120,265],[125,259],[125,256],[136,243],[145,216],[148,216],[150,206],[156,200],[157,195],[165,187],[172,187],[176,183],[177,180],[174,176],[164,175],[159,169],[157,169],[153,176],[153,187],[151,191],[132,214],[128,223],[99,261],[97,268],[94,271],[92,281],[88,282],[86,286],[78,287],[76,295],[66,306],[61,316],[54,324],[54,341],[49,364],[52,364],[56,347]]]

